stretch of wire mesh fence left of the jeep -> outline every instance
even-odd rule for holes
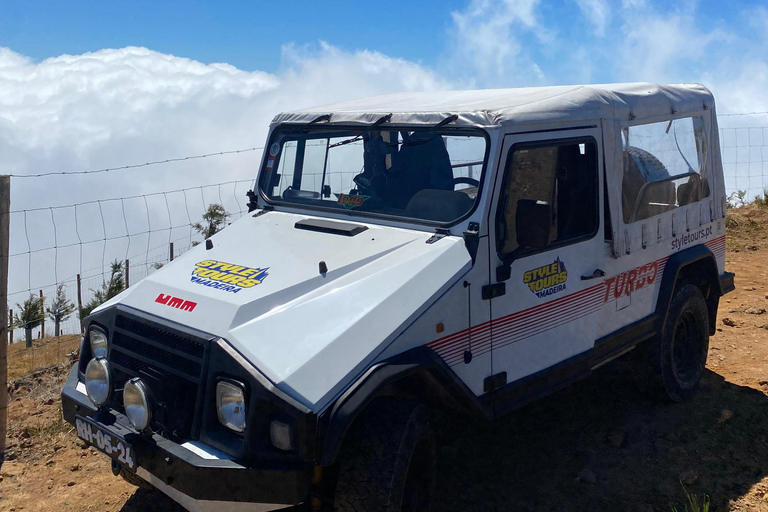
[[[111,278],[113,262],[133,284],[189,250],[203,237],[193,228],[211,204],[229,213],[228,222],[247,212],[246,192],[253,180],[100,199],[49,208],[11,211],[8,307],[14,317],[30,296],[49,308],[58,284],[75,311],[61,322],[61,334],[80,332],[80,303],[88,304]],[[54,333],[46,315],[32,337]],[[15,325],[13,340],[25,338]]]

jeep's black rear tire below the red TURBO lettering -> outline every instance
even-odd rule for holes
[[[709,310],[698,287],[678,287],[661,334],[641,348],[648,370],[643,375],[644,387],[650,385],[673,402],[694,397],[709,351]]]

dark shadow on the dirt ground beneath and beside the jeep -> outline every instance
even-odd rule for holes
[[[642,395],[619,365],[493,423],[441,421],[435,511],[669,512],[681,479],[725,509],[768,461],[768,398],[710,371],[688,404]],[[145,510],[182,509],[140,489],[122,512]]]

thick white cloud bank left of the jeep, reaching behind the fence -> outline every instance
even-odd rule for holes
[[[374,51],[346,52],[321,43],[286,46],[276,74],[246,72],[228,64],[203,64],[146,48],[100,50],[34,62],[0,48],[0,169],[11,174],[98,169],[262,146],[272,117],[280,111],[393,91],[448,88],[435,73],[418,64]],[[193,160],[90,176],[14,179],[13,210],[66,205],[93,198],[125,197],[235,179],[255,179],[260,152]],[[221,192],[227,208],[245,203],[245,190]],[[171,222],[193,221],[204,203],[218,200],[207,189],[169,198]],[[218,202],[218,201],[217,201]],[[78,209],[79,238],[119,236],[125,224],[132,233],[167,227],[162,196]],[[146,209],[145,209],[146,208]],[[148,210],[148,211],[147,211]],[[72,210],[56,213],[59,245],[77,242]],[[106,229],[103,230],[101,216]],[[51,213],[12,218],[11,253],[27,250],[26,222],[32,249],[54,242]],[[174,232],[184,235],[186,228]],[[84,247],[83,269],[102,260],[132,256],[144,261],[167,254],[168,232]],[[165,240],[165,242],[163,242]],[[165,244],[165,245],[164,245]],[[178,247],[178,246],[177,246]],[[78,250],[35,253],[11,258],[11,291],[74,276],[81,269]],[[56,264],[55,264],[56,263]],[[134,269],[134,275],[138,272]],[[86,289],[98,283],[85,285]],[[12,297],[19,300],[19,297]]]

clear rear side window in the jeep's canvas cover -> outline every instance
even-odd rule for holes
[[[622,143],[625,223],[709,196],[703,118],[630,126],[622,130]]]

